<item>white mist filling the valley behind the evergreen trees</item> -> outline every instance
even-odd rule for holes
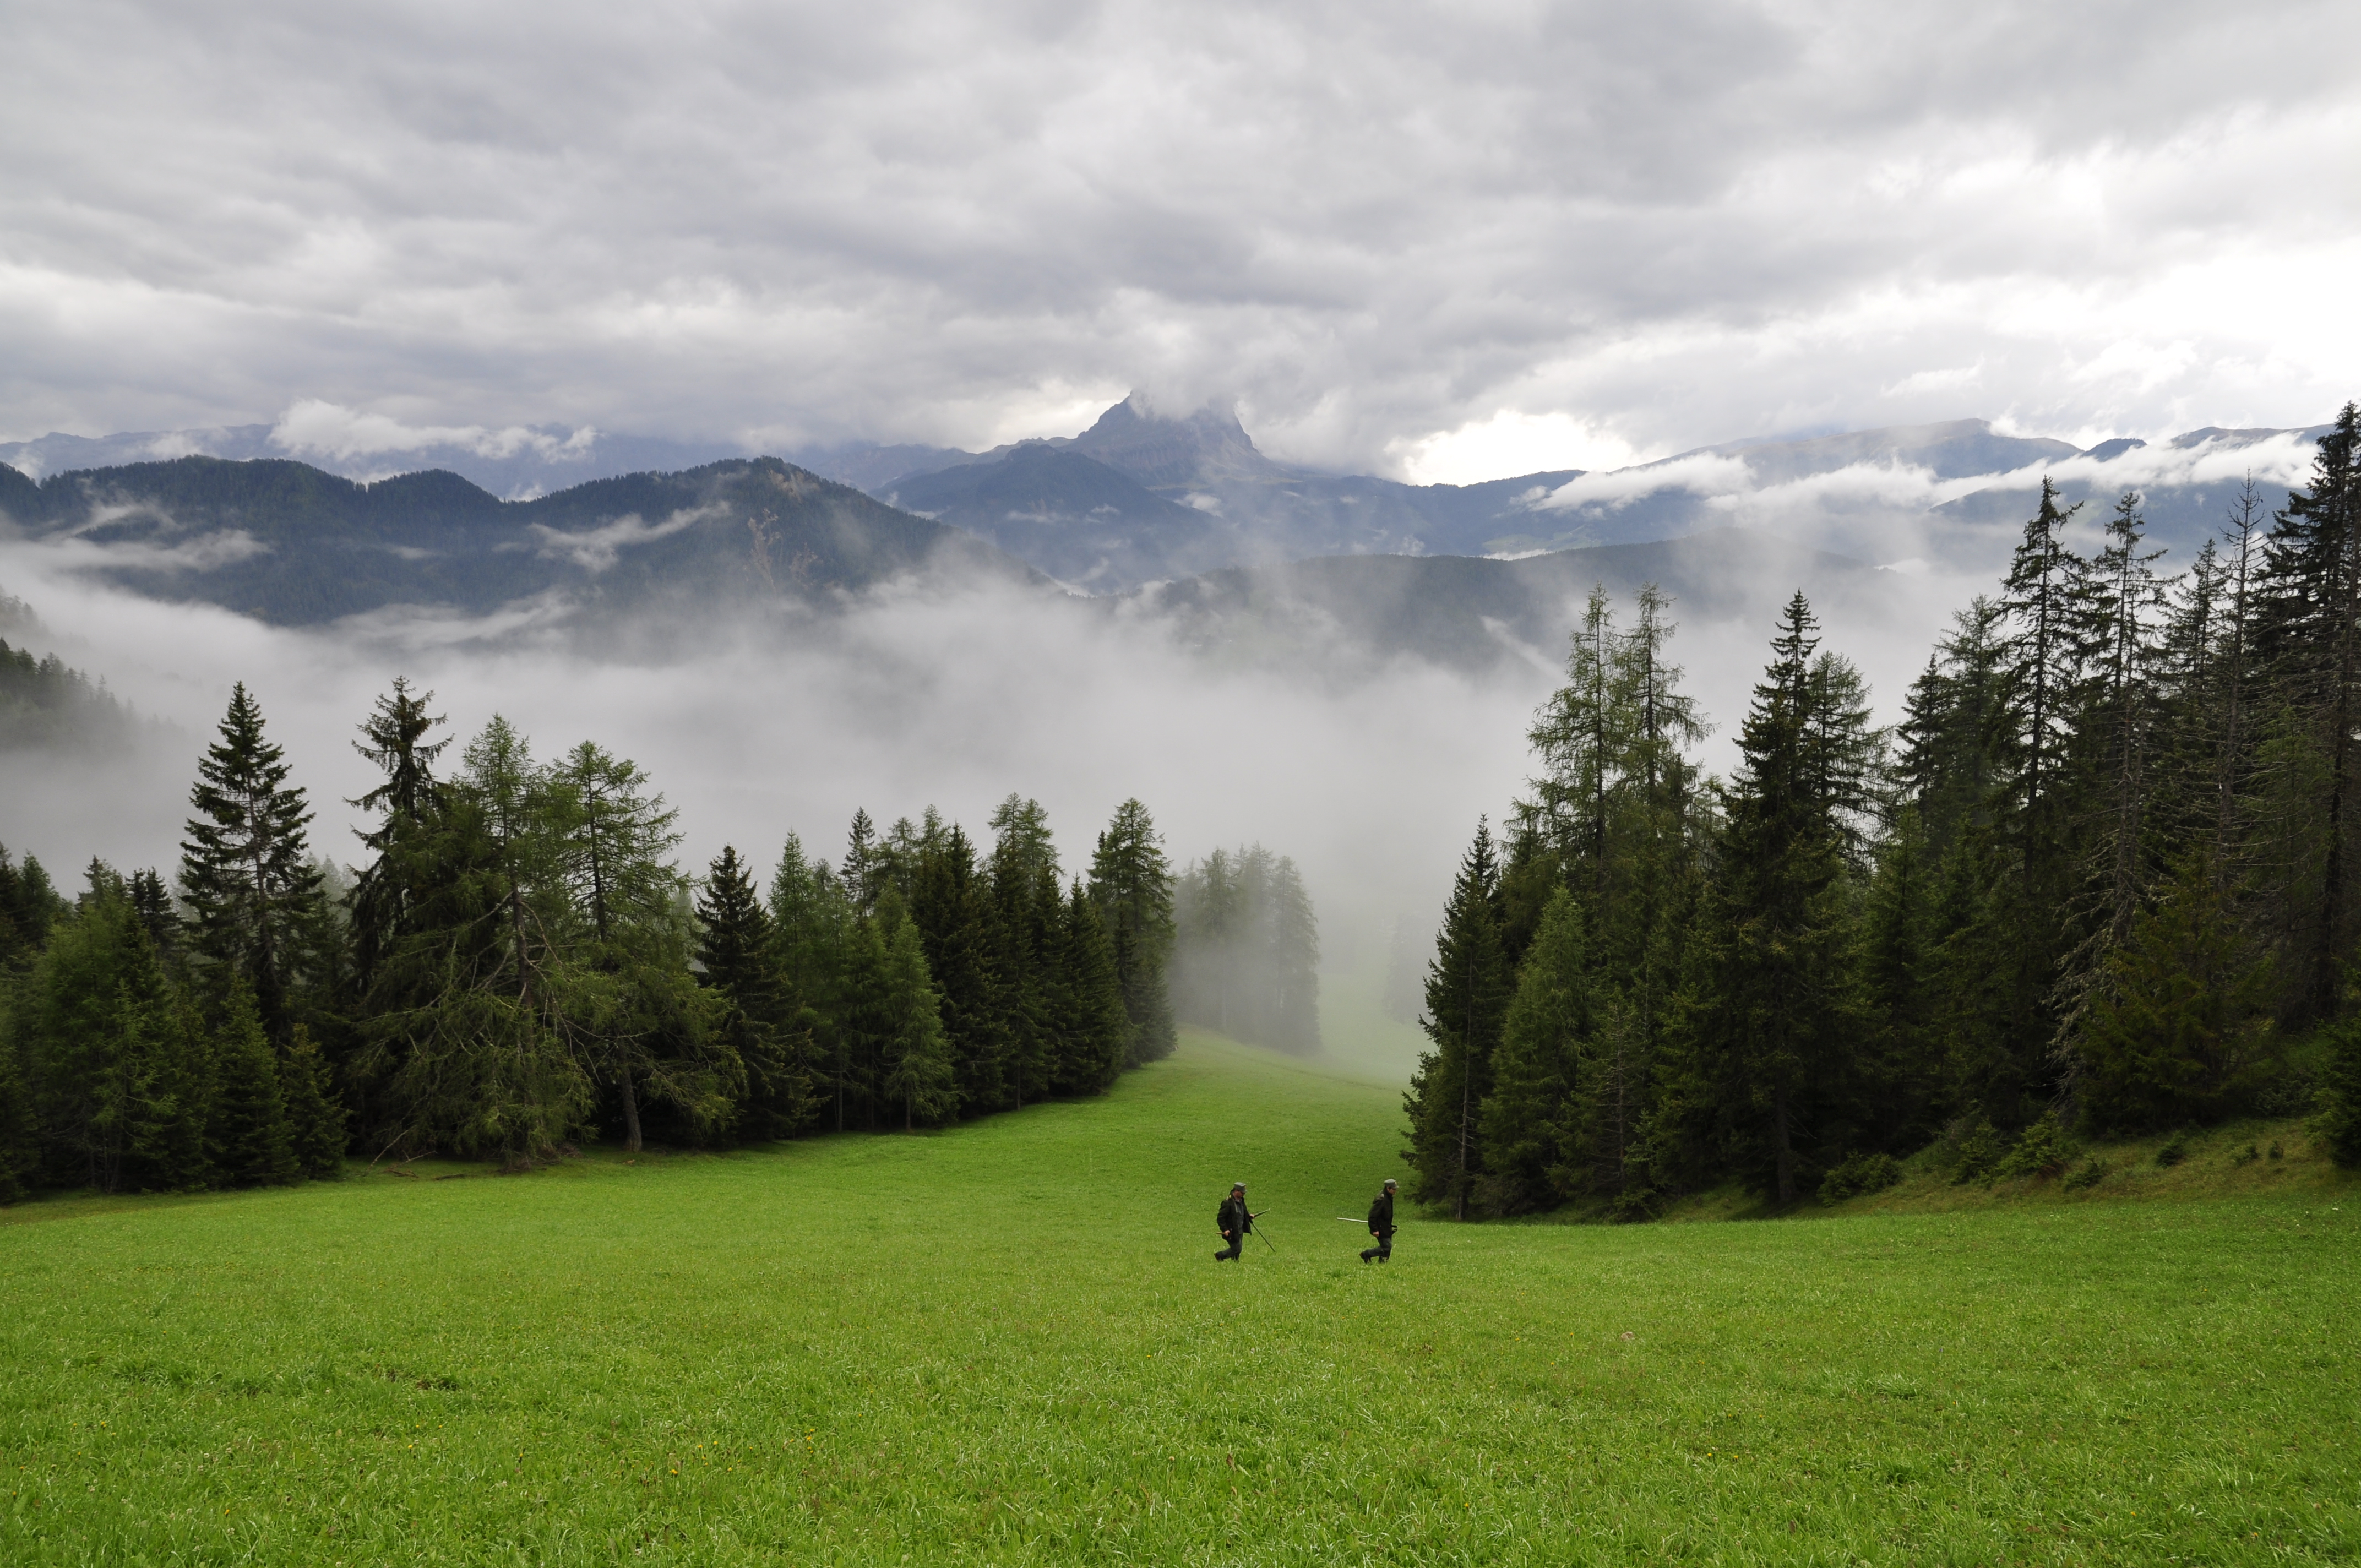
[[[1924,486],[1884,479],[1903,491],[1889,543],[1915,564],[1849,579],[1823,621],[1825,647],[1870,675],[1891,720],[1934,628],[1993,586],[1948,562],[2002,560],[2009,541],[1960,524],[1964,545],[1929,548],[1910,508]],[[1832,498],[1860,489],[1839,475],[1813,505],[1745,501],[1785,508],[1783,538],[1837,543],[1860,517]],[[40,855],[66,888],[92,855],[170,874],[196,758],[236,680],[309,791],[314,850],[359,860],[347,801],[378,779],[349,741],[406,675],[434,692],[442,734],[465,739],[501,713],[543,758],[578,739],[635,758],[680,810],[692,874],[725,843],[767,867],[786,834],[836,860],[855,810],[883,829],[933,805],[985,836],[1011,791],[1044,803],[1067,874],[1131,796],[1176,871],[1216,848],[1268,845],[1294,860],[1317,912],[1325,1053],[1386,1077],[1405,1077],[1424,1046],[1405,992],[1476,819],[1499,822],[1523,789],[1525,730],[1558,680],[1582,581],[1575,560],[1570,590],[1537,616],[1542,633],[1485,623],[1499,656],[1469,666],[1372,647],[1325,612],[1299,614],[1284,647],[1206,645],[1204,628],[1140,600],[923,574],[822,605],[713,614],[675,602],[593,616],[545,595],[484,616],[394,607],[274,628],[111,588],[97,574],[109,560],[71,534],[0,543],[0,586],[38,616],[17,640],[104,675],[153,720],[104,753],[0,753],[0,843]],[[1674,656],[1714,723],[1702,763],[1719,772],[1771,614],[1799,583],[1716,576],[1709,555],[1683,571]],[[1615,593],[1627,600],[1629,586]]]

